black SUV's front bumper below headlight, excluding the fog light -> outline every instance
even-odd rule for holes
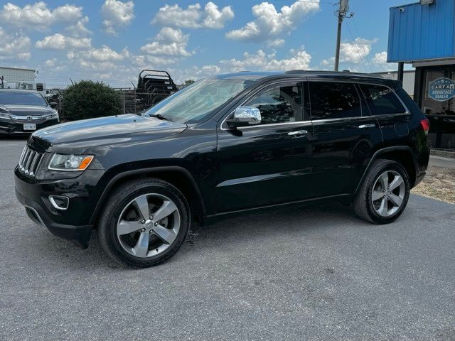
[[[88,247],[93,229],[90,220],[97,204],[92,194],[104,171],[87,170],[77,178],[53,181],[28,178],[18,168],[14,173],[16,197],[26,207],[28,217],[56,237],[68,239],[78,247]],[[49,195],[70,197],[68,210],[56,210]]]

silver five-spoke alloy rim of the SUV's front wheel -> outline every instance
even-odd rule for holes
[[[180,230],[176,204],[165,195],[140,195],[124,207],[117,221],[117,239],[133,256],[161,254],[176,240]]]

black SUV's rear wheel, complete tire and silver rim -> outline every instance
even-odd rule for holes
[[[355,213],[375,224],[396,220],[410,197],[410,178],[400,163],[373,162],[353,202]]]

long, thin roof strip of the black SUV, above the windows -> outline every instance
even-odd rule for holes
[[[251,72],[251,71],[240,71],[225,73],[215,76],[220,80],[260,80],[262,78],[275,78],[275,77],[327,77],[327,78],[348,78],[349,80],[355,80],[361,82],[362,80],[368,80],[372,82],[382,83],[394,83],[395,80],[381,77],[380,75],[372,75],[368,73],[348,72],[348,71],[317,71],[317,70],[291,70],[281,72]]]

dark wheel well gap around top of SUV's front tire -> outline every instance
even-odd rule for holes
[[[95,226],[97,225],[98,216],[101,208],[105,205],[109,195],[114,192],[119,185],[127,183],[131,180],[138,180],[141,178],[158,178],[164,180],[171,185],[178,188],[181,193],[186,197],[188,204],[190,205],[191,216],[193,221],[200,222],[202,217],[205,216],[205,205],[203,198],[200,195],[200,192],[197,188],[196,183],[194,182],[191,175],[187,174],[185,171],[180,171],[178,169],[166,169],[166,170],[150,170],[150,171],[138,171],[134,173],[128,173],[127,175],[119,175],[117,180],[112,180],[112,183],[109,183],[109,188],[103,193],[100,202],[98,203],[96,210],[94,212]]]

